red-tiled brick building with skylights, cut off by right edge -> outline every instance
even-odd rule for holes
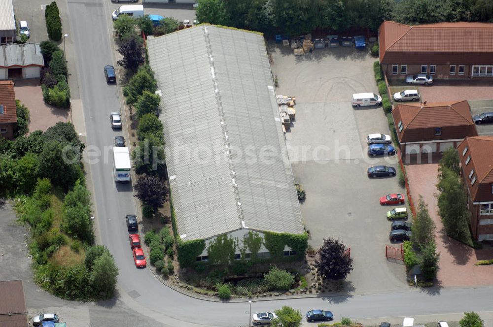
[[[493,240],[493,136],[466,137],[457,150],[473,236],[479,241]]]

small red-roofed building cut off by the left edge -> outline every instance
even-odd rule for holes
[[[12,139],[16,125],[14,82],[0,81],[0,136]]]

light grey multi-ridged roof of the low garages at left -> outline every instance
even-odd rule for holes
[[[0,66],[10,67],[29,66],[29,65],[44,65],[41,47],[37,43],[17,44],[10,43],[0,45]]]

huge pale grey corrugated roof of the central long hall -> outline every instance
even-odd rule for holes
[[[147,45],[182,238],[242,227],[302,233],[262,35],[201,25]],[[277,155],[260,160],[268,151]]]

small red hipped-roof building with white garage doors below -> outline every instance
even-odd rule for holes
[[[392,117],[403,156],[440,153],[478,135],[466,100],[398,104]]]

